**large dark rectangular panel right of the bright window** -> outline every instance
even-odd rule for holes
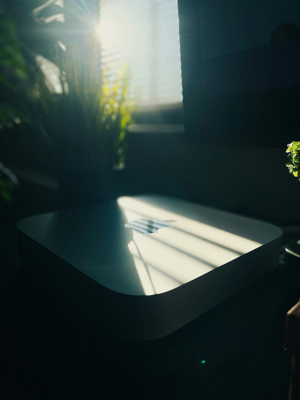
[[[186,130],[192,138],[296,140],[298,4],[178,0]],[[288,137],[287,140],[290,140]]]

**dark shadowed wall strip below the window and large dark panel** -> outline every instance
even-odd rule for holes
[[[129,138],[124,182],[128,193],[170,194],[297,225],[300,182],[285,166],[285,150],[285,145],[193,143],[171,134],[136,134]]]

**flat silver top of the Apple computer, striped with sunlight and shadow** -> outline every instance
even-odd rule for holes
[[[166,196],[120,197],[29,217],[17,227],[106,288],[146,296],[282,235],[272,224]]]

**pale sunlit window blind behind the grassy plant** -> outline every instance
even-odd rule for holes
[[[127,64],[142,106],[182,102],[177,0],[100,0],[102,63]]]

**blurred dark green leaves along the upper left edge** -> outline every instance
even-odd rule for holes
[[[28,130],[31,126],[32,130],[37,115],[35,106],[40,97],[47,94],[36,56],[42,48],[54,49],[54,39],[51,46],[43,44],[44,27],[33,15],[33,9],[38,3],[30,0],[0,0],[2,128]],[[50,56],[50,51],[45,50],[45,54]]]

